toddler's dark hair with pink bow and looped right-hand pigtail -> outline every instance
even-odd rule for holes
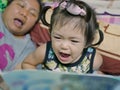
[[[51,16],[50,31],[70,22],[74,25],[73,29],[79,28],[84,32],[86,46],[99,45],[103,41],[104,37],[99,29],[96,13],[87,3],[80,0],[63,0],[60,2]],[[100,38],[97,43],[92,44],[97,31]]]

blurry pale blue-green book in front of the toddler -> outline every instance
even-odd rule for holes
[[[1,76],[9,90],[120,90],[119,76],[43,70],[17,70]]]

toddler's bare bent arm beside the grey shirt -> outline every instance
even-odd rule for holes
[[[22,63],[22,69],[36,69],[38,64],[44,60],[46,44],[39,46],[34,52],[30,53]]]

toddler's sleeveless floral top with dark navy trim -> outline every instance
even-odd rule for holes
[[[92,73],[95,52],[96,50],[93,47],[85,48],[82,56],[77,62],[72,64],[62,64],[53,52],[51,42],[48,42],[42,69],[60,72]]]

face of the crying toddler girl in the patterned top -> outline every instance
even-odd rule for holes
[[[61,63],[68,64],[76,62],[85,47],[84,34],[72,25],[64,25],[51,32],[52,47]]]

